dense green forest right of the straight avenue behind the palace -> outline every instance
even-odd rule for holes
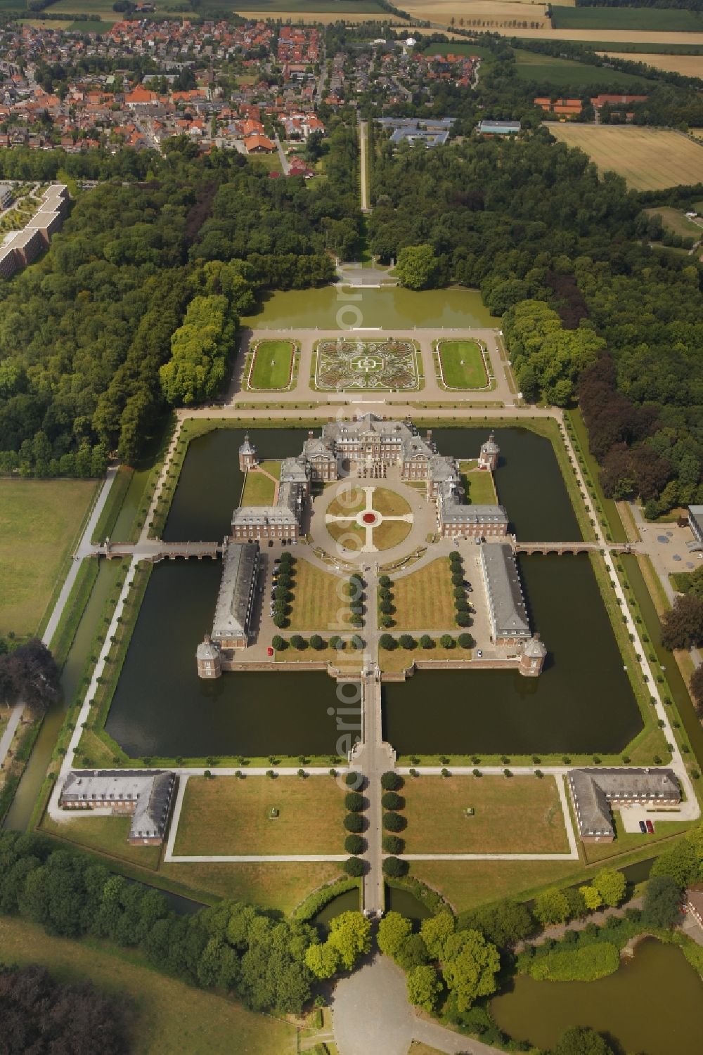
[[[581,396],[608,494],[648,516],[703,501],[703,271],[639,241],[642,202],[620,176],[598,178],[547,129],[441,151],[380,140],[372,198],[382,262],[430,247],[430,284],[479,286],[504,316],[527,398]]]

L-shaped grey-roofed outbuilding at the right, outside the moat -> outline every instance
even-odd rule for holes
[[[572,769],[568,784],[578,835],[585,843],[613,841],[613,806],[667,806],[681,802],[672,769]]]

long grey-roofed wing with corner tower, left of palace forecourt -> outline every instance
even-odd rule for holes
[[[198,677],[220,677],[223,670],[231,670],[238,651],[249,644],[259,561],[259,542],[226,548],[212,631],[195,652]]]

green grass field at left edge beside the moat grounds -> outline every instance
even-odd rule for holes
[[[0,635],[36,632],[95,480],[0,480]]]

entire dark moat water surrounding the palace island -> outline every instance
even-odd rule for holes
[[[488,426],[433,433],[440,452],[475,457]],[[297,454],[304,429],[252,429],[262,458]],[[239,428],[190,444],[165,537],[220,539],[239,503]],[[496,430],[495,475],[512,529],[526,540],[581,533],[551,443]],[[533,625],[550,650],[530,680],[512,671],[416,674],[384,691],[385,733],[403,753],[616,751],[641,728],[587,557],[521,559]],[[228,673],[197,678],[194,652],[212,621],[217,561],[154,569],[107,723],[132,756],[336,753],[335,683],[326,674]],[[432,679],[432,682],[431,682]],[[433,707],[428,707],[432,695]]]

